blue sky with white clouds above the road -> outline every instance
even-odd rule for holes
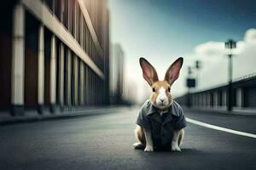
[[[138,100],[151,93],[140,57],[154,65],[160,79],[175,59],[184,58],[172,85],[175,97],[187,93],[187,68],[197,59],[202,67],[192,75],[198,78],[195,91],[228,81],[230,51],[224,42],[230,38],[237,41],[233,79],[256,72],[256,1],[109,0],[109,11],[110,41],[119,43],[125,54],[125,88],[134,86]]]

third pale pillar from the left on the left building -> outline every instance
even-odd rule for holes
[[[50,41],[50,74],[49,74],[49,111],[55,112],[55,104],[56,104],[56,42],[55,36],[52,35]]]

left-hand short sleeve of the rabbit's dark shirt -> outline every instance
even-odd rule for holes
[[[137,125],[143,128],[151,129],[151,122],[149,117],[147,116],[147,102],[143,105],[142,109],[137,116]]]

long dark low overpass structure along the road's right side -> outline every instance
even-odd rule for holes
[[[230,89],[229,89],[230,88]],[[230,92],[230,103],[228,94]],[[227,111],[228,105],[233,111],[256,112],[256,75],[247,75],[231,83],[215,88],[185,94],[176,98],[177,102],[192,109]]]

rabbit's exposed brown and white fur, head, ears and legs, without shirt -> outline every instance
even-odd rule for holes
[[[167,69],[166,76],[163,81],[159,81],[157,73],[148,60],[140,58],[140,65],[143,69],[143,77],[152,88],[152,94],[150,95],[150,102],[157,109],[160,114],[168,111],[168,108],[172,105],[171,87],[179,76],[179,71],[183,65],[183,58],[178,58]],[[145,148],[144,151],[154,151],[153,141],[151,137],[151,131],[143,127],[137,126],[135,134],[138,142],[133,144],[135,149]],[[177,130],[173,133],[172,138],[172,151],[181,151],[180,145],[183,142],[184,130]]]

